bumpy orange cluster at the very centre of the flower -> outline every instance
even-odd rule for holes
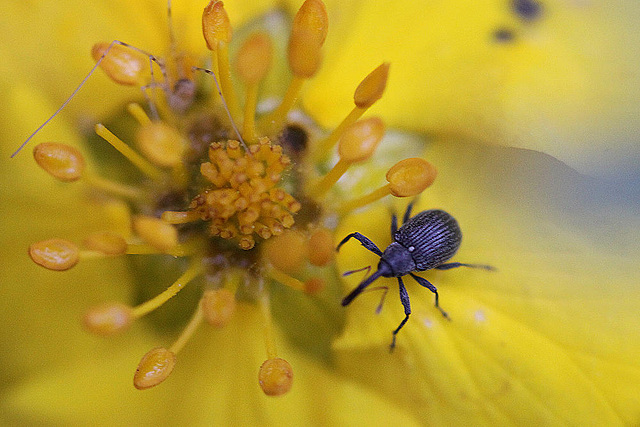
[[[209,159],[200,173],[215,187],[198,194],[189,209],[211,221],[211,235],[237,239],[248,250],[255,245],[254,234],[268,239],[293,225],[292,214],[301,205],[278,186],[291,164],[281,146],[260,138],[246,152],[238,141],[216,142],[209,147]]]

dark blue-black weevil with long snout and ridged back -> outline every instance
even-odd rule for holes
[[[448,319],[449,315],[440,307],[438,289],[424,277],[413,274],[414,272],[431,269],[449,270],[456,267],[482,268],[494,270],[494,267],[482,264],[464,264],[461,262],[449,261],[460,247],[462,232],[458,221],[449,213],[433,209],[422,211],[411,217],[413,202],[407,206],[404,213],[403,225],[398,229],[398,219],[395,214],[391,217],[391,238],[392,242],[386,249],[381,251],[375,243],[364,235],[355,232],[349,234],[338,244],[337,251],[347,241],[354,238],[362,246],[376,255],[380,256],[378,269],[371,276],[363,280],[353,291],[342,300],[342,305],[349,305],[367,286],[379,277],[396,277],[400,287],[400,301],[404,307],[405,317],[400,325],[393,331],[390,350],[393,351],[396,345],[396,335],[409,320],[411,314],[411,304],[409,294],[404,286],[402,277],[409,275],[423,286],[433,292],[436,296],[435,307],[442,315]],[[355,270],[361,271],[361,270]],[[351,274],[355,271],[347,272]]]

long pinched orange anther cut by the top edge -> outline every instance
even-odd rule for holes
[[[289,38],[289,67],[295,77],[308,79],[320,67],[322,47],[329,19],[327,9],[320,0],[306,0],[293,18]]]

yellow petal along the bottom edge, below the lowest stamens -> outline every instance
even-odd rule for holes
[[[152,341],[147,338],[124,354],[87,358],[13,388],[3,412],[11,419],[71,425],[420,424],[375,390],[344,381],[327,366],[308,360],[281,335],[276,339],[293,366],[293,388],[282,397],[265,396],[258,385],[258,368],[266,357],[262,318],[246,305],[238,306],[236,314],[225,328],[201,327],[160,387],[141,392],[131,385],[137,364],[131,350],[144,353],[143,345]]]

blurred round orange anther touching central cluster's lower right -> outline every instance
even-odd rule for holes
[[[275,268],[287,273],[294,273],[305,262],[307,239],[302,233],[287,230],[280,236],[265,242],[264,253]]]

